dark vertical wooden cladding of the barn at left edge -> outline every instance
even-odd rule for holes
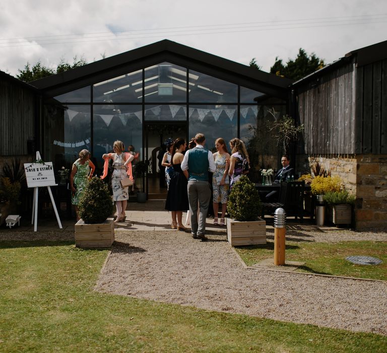
[[[0,155],[27,153],[27,140],[35,139],[35,94],[0,77]]]

